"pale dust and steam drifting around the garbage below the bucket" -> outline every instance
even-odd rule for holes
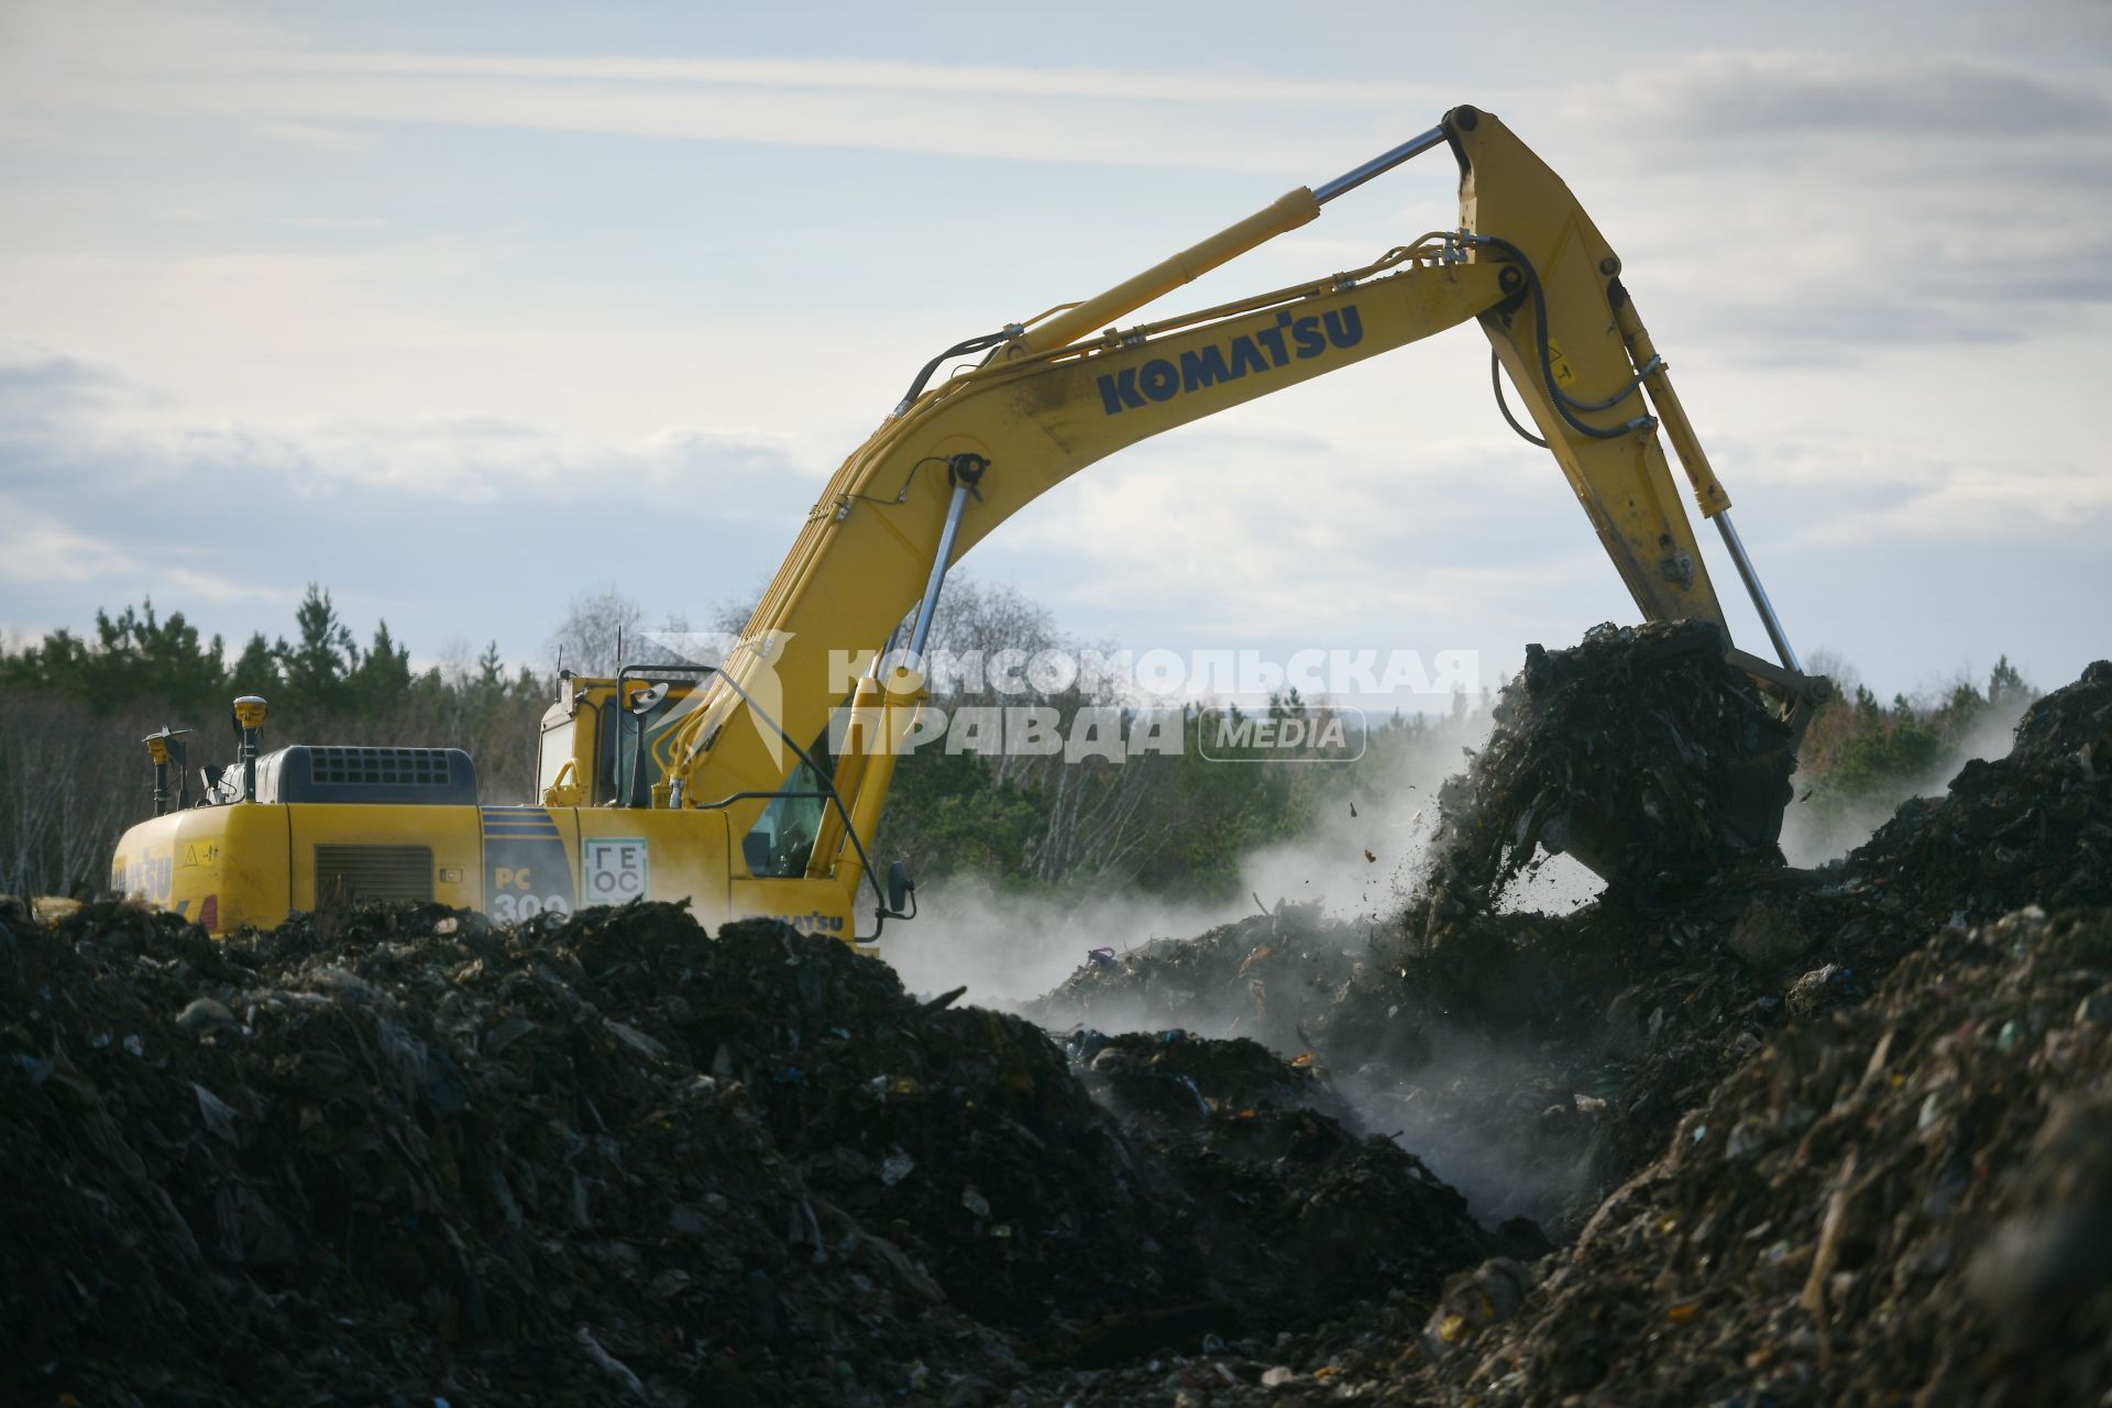
[[[1861,844],[1907,796],[1941,794],[1966,758],[2009,754],[2023,703],[1990,711],[1926,777],[1852,806],[1791,804],[1783,851],[1791,865],[1816,865]],[[917,992],[967,986],[969,1001],[993,1007],[1029,1007],[1052,992],[1088,958],[1088,950],[1117,954],[1153,939],[1185,941],[1221,925],[1252,918],[1280,906],[1316,906],[1333,925],[1297,922],[1297,944],[1328,944],[1339,954],[1316,956],[1318,969],[1343,973],[1371,956],[1381,927],[1394,918],[1423,880],[1438,821],[1438,787],[1478,749],[1491,720],[1481,711],[1462,730],[1438,732],[1428,745],[1407,749],[1383,777],[1343,779],[1322,808],[1312,836],[1255,851],[1242,865],[1240,897],[1221,903],[1174,903],[1107,887],[1077,895],[999,893],[976,878],[929,887],[925,916],[887,933],[883,952],[904,984]],[[1797,779],[1797,794],[1808,783]],[[1823,802],[1823,798],[1821,798]],[[1375,859],[1366,859],[1366,855]],[[1506,887],[1500,908],[1567,914],[1603,891],[1605,882],[1567,855],[1544,851]],[[1168,1007],[1168,994],[1134,990],[1105,994],[1090,1022],[1105,1032],[1181,1026],[1200,1036],[1255,1036],[1280,1055],[1309,1043],[1301,1024],[1320,1013],[1328,992],[1290,996],[1271,986],[1271,1011],[1250,1009],[1240,986],[1198,1003],[1193,992]],[[1303,1003],[1303,1007],[1301,1007]],[[1029,1015],[1035,1015],[1029,1011]],[[1058,1015],[1058,1022],[1062,1017]],[[1371,1134],[1383,1134],[1421,1157],[1459,1188],[1474,1214],[1495,1222],[1510,1216],[1546,1218],[1569,1205],[1588,1182],[1588,1159],[1544,1161],[1521,1167],[1516,1140],[1485,1123],[1491,1108],[1525,1100],[1542,1055],[1506,1047],[1487,1030],[1453,1028],[1423,1020],[1426,1041],[1400,1060],[1373,1060],[1333,1070],[1333,1089]],[[1546,1098],[1506,1106],[1512,1121],[1546,1119]],[[1481,1119],[1468,1117],[1481,1115]]]

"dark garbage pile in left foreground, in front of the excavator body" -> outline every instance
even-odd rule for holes
[[[8,901],[0,1397],[982,1402],[1521,1245],[1250,1043],[953,996],[672,906]]]

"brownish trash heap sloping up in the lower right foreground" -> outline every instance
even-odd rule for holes
[[[2112,912],[1939,931],[1683,1117],[1516,1321],[1426,1345],[1476,1404],[2097,1402]]]

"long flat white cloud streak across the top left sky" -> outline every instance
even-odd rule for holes
[[[152,6],[150,6],[152,8]],[[1037,70],[870,59],[524,57],[327,51],[224,11],[108,27],[32,6],[0,57],[0,141],[76,148],[89,127],[239,122],[272,141],[359,150],[361,125],[435,122],[691,141],[762,141],[1102,165],[1297,169],[1339,154],[1343,110],[1436,91],[1255,74]],[[1208,116],[1193,116],[1206,110]],[[1303,116],[1286,125],[1284,114]],[[68,122],[40,122],[65,114]],[[1337,114],[1328,118],[1326,114]],[[148,135],[142,131],[142,135]],[[1404,135],[1404,133],[1402,133]]]

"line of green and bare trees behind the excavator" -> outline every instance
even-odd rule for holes
[[[735,625],[739,610],[720,610]],[[631,640],[642,612],[600,593],[572,604],[551,652],[587,669],[612,663],[615,635]],[[670,623],[674,625],[674,623]],[[608,638],[608,640],[604,640]],[[1062,650],[1077,654],[1050,612],[1018,591],[955,578],[934,631],[955,654]],[[1928,699],[1882,703],[1840,661],[1818,665],[1842,690],[1806,739],[1799,800],[1844,830],[1867,825],[1916,789],[1935,789],[1970,751],[2000,751],[2034,697],[2002,659],[1985,686],[1958,680]],[[310,587],[289,638],[251,635],[239,650],[201,638],[182,612],[152,604],[99,612],[91,635],[53,631],[0,650],[0,893],[72,893],[103,887],[118,834],[150,813],[150,766],[139,739],[188,726],[192,766],[234,760],[230,701],[270,701],[266,745],[422,743],[465,747],[488,802],[528,802],[536,722],[553,678],[507,667],[496,644],[477,661],[412,669],[386,623],[359,644],[329,593]],[[1128,707],[1111,686],[1088,692],[938,699],[946,709],[1054,705]],[[925,882],[978,874],[1007,889],[1124,887],[1168,897],[1225,899],[1259,849],[1314,836],[1345,804],[1413,806],[1459,749],[1483,732],[1478,699],[1447,713],[1371,722],[1356,762],[1210,762],[1193,711],[1178,751],[1126,762],[1062,756],[982,756],[925,747],[895,770],[874,844],[904,857]],[[1288,713],[1303,705],[1278,699]],[[196,794],[196,783],[192,785]]]

